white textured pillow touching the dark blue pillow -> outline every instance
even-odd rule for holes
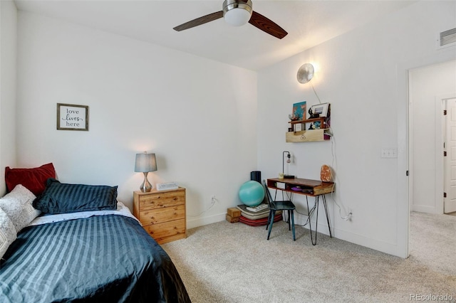
[[[0,208],[13,222],[16,233],[41,213],[32,206],[35,198],[36,196],[21,184],[16,185],[10,193],[0,198]]]

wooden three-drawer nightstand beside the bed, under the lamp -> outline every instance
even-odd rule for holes
[[[135,191],[133,215],[158,244],[186,238],[185,188]]]

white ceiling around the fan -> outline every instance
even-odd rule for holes
[[[264,1],[253,9],[289,34],[274,38],[247,23],[218,19],[185,31],[172,28],[222,10],[223,0],[14,0],[21,11],[117,33],[222,63],[259,70],[415,1]]]

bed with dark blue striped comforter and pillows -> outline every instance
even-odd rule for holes
[[[49,188],[72,186],[49,180],[38,197],[19,184],[0,199],[0,228],[10,232],[3,236],[9,245],[0,260],[1,302],[190,302],[170,257],[117,201],[117,187],[114,192],[105,186],[108,204],[115,206],[90,209],[86,203],[68,211],[74,201],[58,201],[54,195],[60,211],[44,213],[39,203],[43,197],[46,201]],[[14,203],[25,208],[15,214],[9,209]],[[0,253],[1,247],[0,234]]]

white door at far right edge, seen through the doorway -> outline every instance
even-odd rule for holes
[[[443,212],[452,213],[456,211],[456,98],[447,99],[445,108],[444,151],[447,156],[444,157],[446,198],[443,198]]]

